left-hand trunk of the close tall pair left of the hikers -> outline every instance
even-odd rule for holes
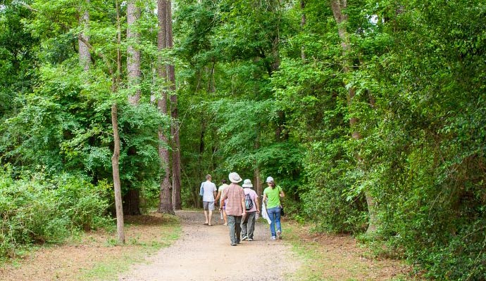
[[[165,48],[167,48],[167,2],[166,0],[157,1],[157,18],[158,18],[158,37],[157,37],[157,48],[159,53],[161,53]],[[163,58],[159,55],[158,65],[157,65],[157,76],[160,81],[164,84],[167,83],[167,70],[166,65],[163,63]],[[158,110],[163,114],[167,115],[167,91],[165,86],[161,87],[162,93],[161,98],[157,101]],[[158,147],[158,156],[161,157],[162,170],[164,171],[163,177],[160,183],[160,194],[158,203],[158,212],[165,214],[174,214],[173,204],[172,204],[172,194],[170,185],[170,155],[169,150],[166,147],[168,144],[168,138],[163,129],[158,131],[158,140],[161,144]]]

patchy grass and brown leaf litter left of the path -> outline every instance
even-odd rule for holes
[[[29,247],[18,259],[0,263],[0,280],[118,280],[135,263],[173,244],[182,233],[177,216],[151,213],[125,216],[125,244],[112,225],[75,233],[61,244]]]

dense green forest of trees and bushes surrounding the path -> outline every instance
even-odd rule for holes
[[[103,226],[117,186],[173,213],[237,171],[485,280],[485,27],[482,0],[0,1],[0,256]]]

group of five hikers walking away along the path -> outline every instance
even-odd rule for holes
[[[260,208],[258,195],[253,190],[253,184],[249,179],[239,185],[242,178],[239,174],[232,172],[228,176],[230,184],[223,179],[222,185],[216,188],[211,181],[211,175],[206,175],[206,181],[201,183],[200,195],[203,200],[204,225],[213,226],[212,216],[215,204],[219,202],[219,211],[225,221],[224,226],[230,228],[231,246],[236,246],[241,240],[253,241],[255,221],[258,215],[268,215],[270,218],[270,240],[282,239],[282,226],[280,224],[280,215],[282,204],[280,198],[285,194],[280,186],[275,185],[271,176],[266,179],[268,187],[263,190],[263,204]],[[219,201],[218,201],[219,200]]]

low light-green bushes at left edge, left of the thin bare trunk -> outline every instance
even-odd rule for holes
[[[62,242],[73,231],[106,225],[106,182],[93,185],[79,176],[25,174],[13,180],[2,168],[0,181],[0,256],[15,256],[28,244]]]

